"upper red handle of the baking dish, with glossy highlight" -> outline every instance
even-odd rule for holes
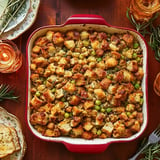
[[[64,23],[64,25],[68,24],[101,24],[110,26],[103,17],[94,14],[75,14]]]

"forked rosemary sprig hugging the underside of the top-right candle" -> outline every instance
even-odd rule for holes
[[[157,19],[159,13],[157,12],[155,16],[153,16],[148,22],[137,22],[134,19],[133,15],[130,14],[129,12],[130,9],[127,8],[126,17],[129,19],[131,24],[136,28],[137,32],[141,33],[143,36],[145,36],[146,34],[150,34],[150,32],[148,31],[148,27],[153,23],[155,19]]]

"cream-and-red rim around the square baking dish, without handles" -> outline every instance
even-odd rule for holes
[[[85,143],[78,143],[78,141],[76,141],[76,140],[78,140],[78,139],[82,139],[82,138],[71,138],[71,139],[75,139],[74,141],[75,141],[75,143],[73,143],[73,142],[71,142],[70,141],[70,138],[68,138],[68,137],[45,137],[45,136],[42,136],[42,137],[40,137],[39,135],[37,135],[37,134],[35,134],[34,132],[33,132],[33,130],[31,129],[31,127],[30,127],[30,122],[29,122],[29,119],[28,119],[28,93],[29,93],[29,90],[28,90],[28,85],[29,85],[29,51],[28,51],[28,47],[29,47],[29,45],[30,45],[30,41],[31,41],[31,39],[33,38],[33,36],[35,35],[35,34],[37,34],[37,32],[42,32],[42,31],[44,31],[44,30],[49,30],[49,29],[55,29],[55,28],[63,28],[63,27],[66,27],[66,26],[68,26],[68,27],[70,27],[70,26],[75,26],[75,25],[93,25],[93,26],[95,26],[95,25],[97,25],[97,26],[105,26],[105,27],[109,27],[110,29],[116,29],[116,30],[119,30],[119,31],[122,31],[122,33],[124,33],[124,32],[132,32],[132,33],[134,33],[135,35],[137,35],[137,36],[139,36],[139,38],[143,41],[143,43],[144,43],[144,46],[145,46],[145,56],[146,56],[146,58],[145,58],[145,63],[146,63],[146,65],[145,65],[145,77],[144,77],[144,82],[145,82],[145,97],[146,97],[146,104],[145,104],[145,111],[146,111],[146,113],[145,113],[145,122],[143,122],[143,124],[142,124],[142,126],[143,126],[143,129],[142,129],[142,126],[141,126],[141,130],[137,133],[137,134],[134,134],[133,136],[131,136],[131,137],[129,137],[129,138],[105,138],[105,139],[101,139],[101,143],[94,143],[94,140],[84,140],[84,142]],[[62,25],[46,25],[46,26],[42,26],[42,27],[39,27],[39,28],[37,28],[34,32],[32,32],[32,34],[29,36],[29,38],[28,38],[28,41],[27,41],[27,45],[26,45],[26,53],[27,53],[27,66],[28,66],[28,70],[27,70],[27,97],[26,97],[26,99],[27,99],[27,101],[26,101],[26,121],[27,121],[27,125],[28,125],[28,127],[29,127],[29,129],[31,130],[31,132],[36,136],[36,137],[38,137],[38,138],[40,138],[40,139],[42,139],[42,140],[45,140],[45,141],[54,141],[54,142],[62,142],[62,143],[64,143],[64,144],[73,144],[73,145],[106,145],[106,144],[110,144],[110,143],[114,143],[114,142],[129,142],[129,141],[132,141],[132,140],[135,140],[135,139],[137,139],[140,135],[142,135],[142,133],[144,132],[144,130],[145,130],[145,128],[146,128],[146,126],[147,126],[147,123],[148,123],[148,90],[147,90],[147,84],[148,84],[148,79],[147,79],[147,75],[148,75],[148,68],[147,68],[147,66],[148,66],[148,48],[147,48],[147,43],[146,43],[146,41],[145,41],[145,39],[144,39],[144,37],[141,35],[141,34],[139,34],[137,31],[135,31],[134,29],[130,29],[130,28],[126,28],[126,27],[118,27],[118,26],[111,26],[111,25],[109,25],[109,24],[83,24],[83,23],[80,23],[80,24],[67,24],[67,23],[64,23],[64,24],[62,24]]]

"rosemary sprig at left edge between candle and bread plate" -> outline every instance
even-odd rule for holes
[[[14,95],[13,90],[9,85],[1,84],[0,85],[0,101],[9,99],[9,100],[17,100],[19,97]]]

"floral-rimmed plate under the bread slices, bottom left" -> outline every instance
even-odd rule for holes
[[[22,128],[19,119],[11,113],[8,113],[4,108],[0,107],[0,123],[11,126],[17,131],[19,137],[19,142],[21,150],[15,152],[7,157],[2,158],[2,160],[22,160],[26,151],[26,142],[22,133]]]

